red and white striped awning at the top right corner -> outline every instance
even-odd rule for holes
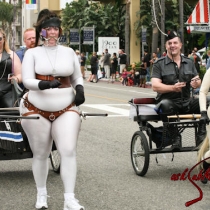
[[[199,0],[185,24],[209,24],[209,0]]]

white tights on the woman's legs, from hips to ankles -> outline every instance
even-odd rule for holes
[[[61,155],[60,174],[64,191],[74,193],[77,173],[76,144],[81,126],[79,115],[68,111],[53,122],[40,116],[38,120],[23,119],[21,124],[33,152],[32,170],[37,189],[46,188],[48,158],[53,139]]]

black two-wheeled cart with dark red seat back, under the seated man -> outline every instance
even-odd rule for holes
[[[154,98],[134,98],[129,103],[130,118],[139,125],[130,146],[131,162],[137,175],[147,173],[151,154],[198,151],[196,136],[200,114],[168,116],[168,122],[162,123],[160,115],[154,110]],[[171,147],[176,135],[174,127],[181,136],[181,147],[176,150]]]

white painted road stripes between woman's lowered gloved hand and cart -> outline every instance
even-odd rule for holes
[[[117,106],[125,106],[128,109],[119,108]],[[108,117],[128,117],[129,116],[129,104],[83,104],[82,107],[89,107],[98,109],[108,113]],[[110,113],[111,112],[111,113]],[[114,113],[114,114],[112,114]]]

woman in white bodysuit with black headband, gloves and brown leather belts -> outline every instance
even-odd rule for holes
[[[74,50],[57,45],[60,24],[60,19],[49,13],[35,25],[40,33],[36,39],[40,38],[44,44],[25,53],[22,77],[29,92],[24,95],[20,112],[23,116],[39,116],[39,119],[22,119],[21,124],[33,152],[36,208],[48,208],[48,157],[54,140],[61,156],[64,210],[84,210],[74,197],[76,145],[81,125],[78,106],[85,101],[83,78]]]

